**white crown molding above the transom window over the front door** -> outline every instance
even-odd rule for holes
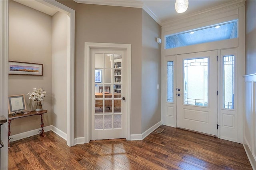
[[[241,7],[241,6],[244,6],[244,5],[245,5],[245,0],[233,0],[232,2],[227,2],[226,4],[222,4],[222,5],[219,5],[219,6],[212,7],[212,8],[208,8],[206,10],[201,10],[201,11],[195,12],[193,14],[189,14],[189,15],[182,16],[182,17],[175,18],[175,19],[171,19],[171,20],[162,21],[162,26],[168,26],[168,25],[170,25],[174,22],[177,24],[177,23],[180,23],[180,21],[186,21],[186,20],[189,20],[191,18],[195,18],[195,17],[198,17],[198,16],[204,16],[204,15],[208,15],[208,14],[212,15],[212,12],[218,13],[222,10],[227,9],[227,8],[238,8],[238,7]]]

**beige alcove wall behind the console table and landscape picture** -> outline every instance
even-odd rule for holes
[[[25,94],[28,110],[35,110],[36,102],[28,99],[33,88],[44,88],[42,101],[44,126],[51,125],[52,110],[52,17],[9,1],[9,60],[44,64],[44,76],[9,75],[8,95]],[[40,128],[40,116],[13,120],[11,135]]]

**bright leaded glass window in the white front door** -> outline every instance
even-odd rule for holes
[[[208,58],[184,60],[184,104],[208,106]]]

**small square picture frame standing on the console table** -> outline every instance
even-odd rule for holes
[[[26,111],[26,101],[25,101],[25,95],[20,94],[20,95],[13,95],[13,96],[8,96],[8,110],[9,114],[13,114],[14,112],[22,112]]]

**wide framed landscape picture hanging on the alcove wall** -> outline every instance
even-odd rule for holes
[[[8,73],[10,75],[43,76],[43,64],[9,61]]]

